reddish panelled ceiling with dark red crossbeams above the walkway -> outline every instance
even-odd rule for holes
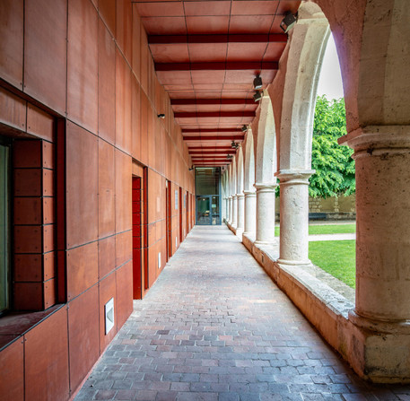
[[[160,83],[196,166],[223,166],[255,118],[254,78],[275,78],[284,13],[300,0],[139,1]]]

